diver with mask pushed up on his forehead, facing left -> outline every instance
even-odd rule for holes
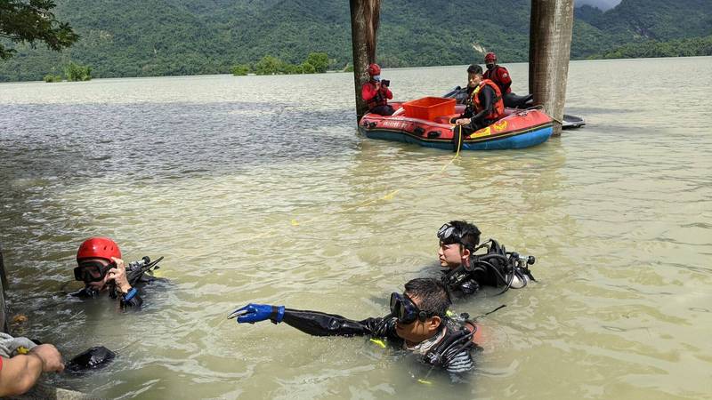
[[[534,280],[527,268],[534,263],[533,257],[507,254],[504,246],[493,239],[478,246],[480,235],[480,229],[465,220],[451,220],[438,229],[438,260],[445,268],[442,281],[451,292],[467,296],[478,292],[481,286],[518,289]],[[481,248],[487,248],[487,252],[475,254]]]

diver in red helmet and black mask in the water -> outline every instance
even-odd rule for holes
[[[96,297],[100,292],[109,292],[112,298],[119,297],[120,305],[141,307],[143,300],[135,287],[137,284],[152,281],[153,276],[145,275],[150,268],[158,268],[160,259],[150,262],[147,257],[136,261],[127,272],[118,244],[108,237],[90,237],[77,251],[77,268],[74,278],[83,281],[85,287],[71,296],[80,298]]]

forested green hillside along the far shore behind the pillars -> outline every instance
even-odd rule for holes
[[[42,79],[69,60],[114,77],[228,73],[266,55],[299,63],[310,52],[327,52],[330,68],[341,69],[352,58],[346,0],[58,0],[56,14],[81,36],[77,44],[61,53],[17,47],[0,63],[0,81]],[[529,16],[529,0],[383,0],[378,60],[468,64],[490,50],[504,62],[527,60]],[[573,59],[712,35],[710,0],[623,0],[576,17]]]

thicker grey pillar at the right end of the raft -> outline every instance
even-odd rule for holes
[[[572,29],[573,0],[531,0],[529,90],[554,118],[554,136],[562,132]]]

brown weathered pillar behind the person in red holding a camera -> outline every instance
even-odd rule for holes
[[[368,112],[361,99],[361,85],[368,81],[368,64],[376,62],[376,33],[381,14],[381,0],[349,0],[353,50],[353,83],[356,88],[356,120]]]

